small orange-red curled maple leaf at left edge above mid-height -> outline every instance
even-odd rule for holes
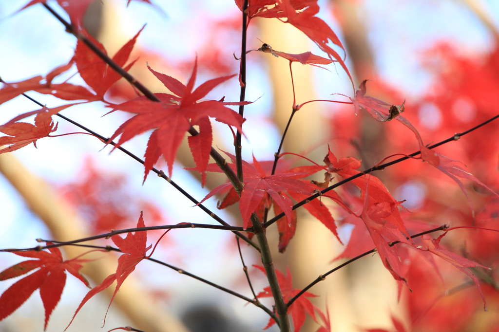
[[[13,122],[11,120],[6,124],[0,126],[0,132],[9,135],[0,137],[0,146],[9,145],[8,147],[1,149],[0,154],[4,152],[15,151],[17,149],[25,147],[30,143],[33,143],[36,148],[36,140],[47,137],[50,135],[50,133],[53,133],[57,130],[57,124],[55,124],[54,126],[52,115],[69,106],[70,105],[64,105],[48,110],[46,108],[42,108],[34,112],[29,112],[27,115],[22,115],[29,116],[33,113],[38,113],[34,118],[34,125],[26,122]],[[13,120],[16,120],[22,116],[18,116]]]

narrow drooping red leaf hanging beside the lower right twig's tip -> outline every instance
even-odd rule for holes
[[[467,258],[464,258],[454,252],[451,252],[440,245],[440,241],[448,232],[444,232],[444,234],[440,235],[437,239],[431,239],[427,237],[423,237],[422,241],[426,246],[426,249],[419,248],[420,250],[427,250],[428,252],[446,260],[451,263],[459,270],[464,272],[468,277],[470,277],[475,285],[477,285],[478,290],[480,291],[480,295],[482,296],[482,301],[484,302],[484,310],[487,310],[487,303],[485,301],[484,293],[482,292],[482,288],[480,287],[480,283],[478,282],[475,274],[470,270],[470,267],[482,267],[490,270],[487,266],[483,266],[477,262],[471,261]]]

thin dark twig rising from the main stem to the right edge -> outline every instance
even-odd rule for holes
[[[446,140],[444,140],[444,141],[442,141],[442,142],[439,142],[439,143],[436,143],[436,144],[434,144],[434,145],[432,145],[432,146],[429,146],[429,147],[428,147],[428,149],[435,149],[435,148],[440,147],[441,145],[444,145],[444,144],[446,144],[446,143],[449,143],[449,142],[452,142],[452,141],[457,141],[457,140],[459,140],[459,138],[461,138],[462,136],[464,136],[464,135],[466,135],[466,134],[469,134],[469,133],[473,132],[474,130],[477,130],[478,128],[480,128],[480,127],[482,127],[482,126],[487,125],[488,123],[490,123],[490,122],[492,122],[492,121],[496,120],[497,118],[499,118],[499,114],[498,114],[498,115],[496,115],[495,117],[490,118],[490,119],[489,119],[489,120],[487,120],[487,121],[482,122],[481,124],[479,124],[479,125],[477,125],[477,126],[475,126],[475,127],[471,128],[471,129],[469,129],[469,130],[467,130],[467,131],[463,132],[463,133],[457,133],[457,134],[455,134],[454,136],[452,136],[452,137],[450,137],[450,138],[448,138],[448,139],[446,139]],[[416,157],[416,156],[418,156],[418,155],[420,155],[420,154],[421,154],[421,151],[417,151],[417,152],[414,152],[414,153],[412,153],[412,154],[410,154],[410,155],[408,155],[408,156],[405,156],[405,157],[402,157],[402,158],[396,159],[396,160],[394,160],[394,161],[392,161],[392,162],[385,163],[385,164],[383,164],[383,165],[379,165],[379,166],[374,166],[374,167],[368,168],[368,169],[366,169],[366,170],[364,170],[364,171],[362,171],[362,172],[359,172],[359,173],[357,173],[357,174],[355,174],[355,175],[353,175],[353,176],[347,177],[347,178],[345,178],[345,179],[343,179],[343,180],[341,180],[341,181],[339,181],[339,182],[336,182],[336,183],[334,183],[333,185],[330,185],[329,187],[327,187],[327,188],[325,188],[325,189],[323,189],[323,190],[321,190],[321,191],[319,191],[319,192],[317,192],[317,193],[315,193],[315,194],[313,194],[313,195],[311,195],[311,196],[309,196],[309,197],[307,197],[307,198],[303,199],[302,201],[300,201],[300,202],[298,202],[298,203],[294,204],[294,205],[293,205],[293,207],[292,207],[292,210],[295,210],[295,209],[297,209],[298,207],[300,207],[300,206],[302,206],[302,205],[305,205],[306,203],[308,203],[308,202],[309,202],[309,201],[311,201],[312,199],[315,199],[315,198],[317,198],[317,197],[321,196],[322,194],[324,194],[324,193],[326,193],[326,192],[328,192],[328,191],[330,191],[330,190],[332,190],[332,189],[334,189],[334,188],[337,188],[337,187],[339,187],[339,186],[341,186],[341,185],[343,185],[343,184],[345,184],[345,183],[347,183],[347,182],[350,182],[351,180],[356,179],[357,177],[360,177],[360,176],[363,176],[363,175],[365,175],[365,174],[371,173],[371,172],[373,172],[373,171],[375,171],[375,170],[382,170],[382,169],[384,169],[384,168],[386,168],[386,167],[388,167],[388,166],[392,166],[392,165],[398,164],[398,163],[403,162],[403,161],[405,161],[405,160],[408,160],[408,159],[410,159],[410,158]],[[283,216],[284,216],[284,213],[279,213],[278,215],[276,215],[276,216],[275,216],[275,217],[273,217],[272,219],[270,219],[270,220],[268,220],[267,222],[265,222],[265,223],[263,224],[263,227],[268,227],[268,226],[270,226],[271,224],[273,224],[274,222],[276,222],[277,220],[279,220],[279,219],[280,219],[280,218],[282,218]]]

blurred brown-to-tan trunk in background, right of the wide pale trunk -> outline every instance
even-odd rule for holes
[[[367,27],[362,17],[364,8],[359,1],[331,0],[333,12],[338,20],[344,36],[344,46],[352,63],[351,73],[358,85],[364,79],[378,77],[373,51],[367,37]],[[369,91],[368,91],[369,94]],[[372,93],[371,95],[376,96]],[[380,99],[389,96],[376,96]],[[361,123],[360,152],[363,156],[362,166],[372,167],[384,158],[385,127],[374,120],[367,112],[359,113]],[[389,178],[383,173],[377,177],[386,184]],[[355,324],[362,327],[391,329],[391,315],[403,316],[401,306],[397,304],[397,285],[392,276],[383,267],[379,257],[362,259],[348,267],[350,274],[350,296],[353,311],[356,314]]]

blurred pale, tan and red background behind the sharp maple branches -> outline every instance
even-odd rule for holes
[[[74,52],[75,38],[66,33],[41,5],[17,12],[25,2],[0,2],[0,76],[6,82],[44,75],[67,63]],[[409,105],[408,118],[418,125],[425,143],[446,139],[498,113],[494,109],[499,98],[498,1],[321,0],[318,3],[321,7],[318,16],[332,27],[345,45],[346,62],[355,83],[371,79],[368,83],[371,95],[393,104],[400,104],[405,99]],[[124,0],[95,1],[88,9],[86,25],[108,53],[114,54],[147,23],[132,53],[132,58],[138,57],[138,60],[131,73],[155,92],[164,92],[165,88],[147,70],[146,62],[153,69],[182,82],[190,76],[196,56],[200,66],[198,83],[238,72],[239,62],[233,54],[238,56],[241,49],[241,15],[234,1],[157,0],[154,4],[132,1],[126,7]],[[52,5],[58,8],[55,2]],[[64,15],[60,8],[58,12]],[[312,42],[288,25],[276,19],[253,20],[248,48],[260,47],[259,38],[279,51],[301,53],[311,50],[323,55]],[[292,106],[288,63],[259,52],[250,53],[248,59],[246,96],[255,103],[248,106],[245,113],[244,158],[250,160],[253,154],[258,160],[271,160]],[[331,94],[353,96],[354,91],[341,67],[330,65],[328,69],[293,65],[298,103],[312,99],[345,100]],[[81,83],[78,77],[71,79]],[[63,102],[48,95],[28,94],[47,107]],[[226,101],[238,100],[237,79],[209,95],[217,100],[222,96]],[[109,99],[114,101],[131,97],[132,90],[121,81],[109,93]],[[31,101],[17,97],[0,105],[0,123],[34,109],[37,107]],[[103,116],[107,111],[102,105],[91,103],[70,108],[63,114],[109,137],[127,115],[114,112]],[[224,126],[214,126],[220,131],[214,145],[232,151],[230,132]],[[330,144],[338,154],[362,159],[363,166],[368,167],[388,155],[417,150],[412,133],[399,127],[391,123],[379,126],[363,114],[355,115],[352,107],[311,103],[297,113],[284,149],[306,154],[320,163]],[[477,177],[497,190],[498,129],[493,123],[474,134],[474,139],[468,143],[467,138],[463,138],[439,152],[448,152],[450,158],[463,161]],[[58,133],[79,131],[71,124],[59,121]],[[142,157],[147,138],[147,134],[143,135],[127,142],[125,147]],[[164,180],[151,175],[142,184],[142,165],[119,151],[110,153],[110,147],[103,147],[99,140],[88,135],[46,138],[37,146],[38,149],[31,145],[11,155],[0,156],[4,174],[0,176],[1,248],[32,247],[37,244],[36,238],[68,240],[109,229],[133,227],[141,210],[146,225],[212,222]],[[183,168],[194,166],[187,144],[182,147],[178,159],[173,180],[198,200],[224,181],[223,177],[210,174],[207,186],[201,189],[197,174]],[[471,212],[459,187],[441,179],[433,170],[414,166],[419,163],[417,161],[406,163],[412,163],[412,166],[401,164],[379,176],[397,199],[407,199],[405,206],[417,214],[411,218],[436,225],[466,224]],[[160,163],[158,167],[165,165]],[[486,211],[484,218],[491,223],[497,222],[497,214],[494,214],[499,206],[497,200],[481,196],[485,194],[468,183],[467,188],[473,190],[477,212]],[[28,197],[35,198],[29,201]],[[36,197],[41,199],[36,200]],[[492,208],[484,208],[486,203]],[[213,198],[206,202],[220,216],[237,223],[237,209],[219,211],[216,204],[217,200]],[[422,213],[418,214],[419,211]],[[305,214],[299,218],[297,235],[285,254],[276,256],[282,271],[290,266],[297,288],[339,264],[331,261],[342,251],[334,236],[317,220]],[[48,219],[53,222],[47,222]],[[348,224],[340,227],[340,236],[345,243],[350,232]],[[155,242],[160,234],[149,233],[148,242]],[[270,232],[270,237],[276,248],[278,235]],[[464,246],[465,237],[461,234],[453,239],[455,249]],[[494,239],[490,243],[486,252],[499,249],[494,246]],[[243,247],[243,252],[247,265],[258,264],[249,248]],[[70,256],[74,252],[67,254]],[[156,255],[158,259],[210,281],[250,294],[231,234],[205,229],[172,231],[162,241]],[[489,257],[489,260],[492,264],[497,257]],[[0,268],[18,261],[15,255],[3,253]],[[113,273],[113,264],[112,259],[102,258],[95,267],[85,271],[97,280],[93,280],[92,285],[100,283],[99,277],[102,280]],[[421,266],[424,267],[424,263]],[[451,267],[443,274],[447,278],[457,272]],[[425,274],[426,280],[424,269],[423,272],[414,271],[415,275],[418,273]],[[252,271],[252,276],[255,289],[261,290],[265,280],[257,271]],[[440,282],[438,274],[433,273],[430,277],[430,280]],[[457,282],[439,287],[453,289],[466,280],[461,275],[459,278]],[[0,283],[0,290],[8,285]],[[429,282],[426,289],[431,288],[428,285],[434,284]],[[87,292],[71,277],[66,287],[47,331],[63,330]],[[490,305],[489,316],[480,316],[485,314],[481,313],[479,293],[473,287],[467,289],[466,294],[461,293],[463,298],[452,301],[463,303],[473,299],[470,301],[475,306],[466,310],[458,306],[466,324],[461,324],[462,330],[452,331],[494,331],[495,321],[491,315],[498,316],[497,304]],[[395,282],[377,256],[342,269],[311,292],[320,295],[314,303],[322,310],[326,310],[325,303],[328,303],[332,331],[368,328],[393,331],[392,315],[404,322],[408,331],[443,331],[439,325],[445,323],[441,322],[443,318],[416,317],[414,308],[418,303],[413,300],[419,297],[427,299],[427,303],[437,303],[431,297],[438,294],[440,288],[435,294],[421,291],[419,295],[413,294],[413,298],[411,295],[406,298],[404,294],[397,301]],[[493,290],[489,295],[494,297]],[[108,301],[105,295],[91,300],[67,331],[100,331]],[[426,310],[418,309],[420,312]],[[441,309],[440,317],[451,320],[452,316],[442,314],[444,309]],[[186,328],[186,324],[194,324],[204,317],[211,321],[201,323],[201,330],[192,326]],[[435,330],[421,323],[425,321]],[[477,321],[482,325],[477,325]],[[145,331],[260,331],[266,322],[267,317],[261,310],[240,299],[175,271],[143,262],[127,279],[111,305],[105,329],[131,325]],[[42,324],[43,307],[35,294],[12,316],[0,322],[0,331],[41,331]],[[208,330],[210,324],[214,325],[214,330]],[[227,324],[226,330],[223,330],[223,324]],[[302,331],[318,328],[311,321],[306,324]]]

